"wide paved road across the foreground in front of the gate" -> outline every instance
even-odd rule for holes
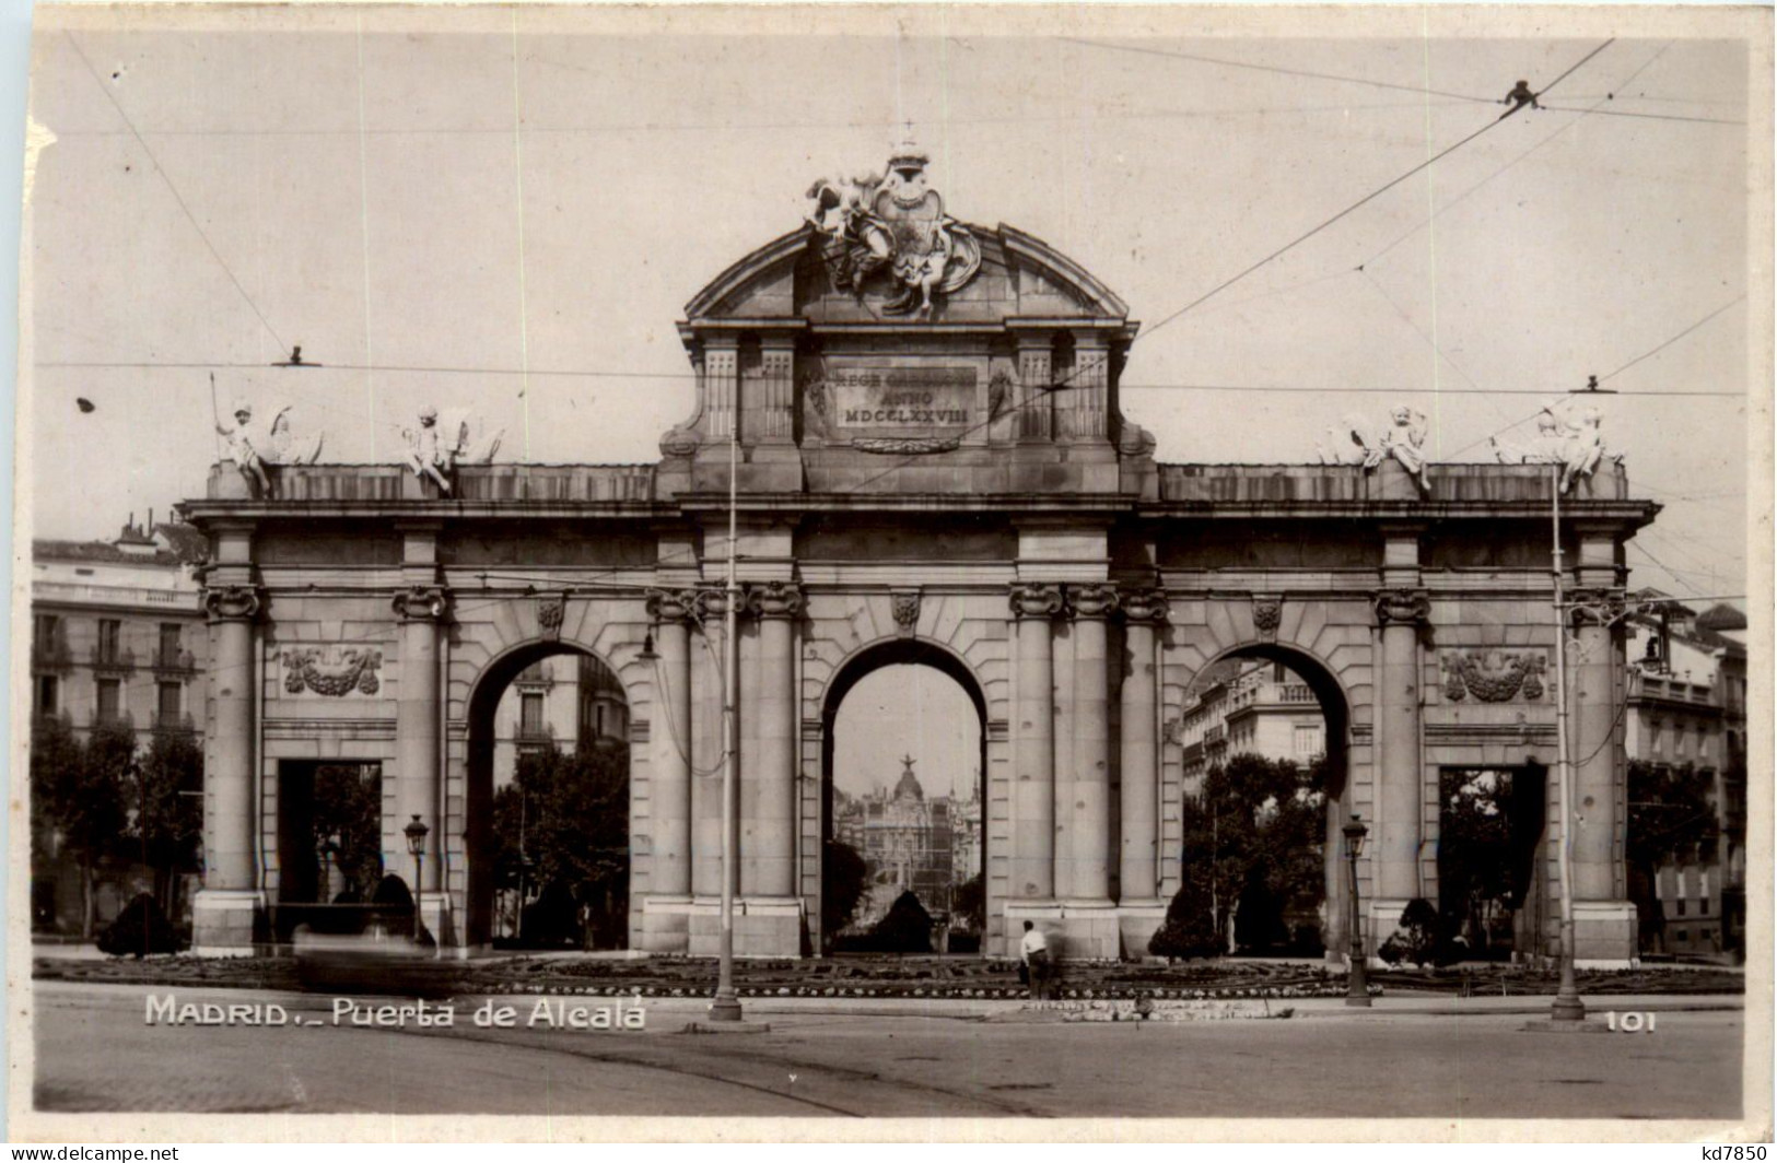
[[[1653,1035],[1521,1016],[1176,1025],[769,1016],[757,1035],[147,1026],[147,989],[37,982],[39,1110],[876,1117],[1740,1117],[1741,1014]],[[181,1001],[325,998],[181,991]],[[524,1003],[521,1003],[524,1005]],[[521,1009],[521,1012],[526,1012]]]

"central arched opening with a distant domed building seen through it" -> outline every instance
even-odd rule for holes
[[[904,691],[915,676],[942,676],[940,684],[949,691],[940,691],[938,698],[972,708],[974,739],[961,746],[952,740],[936,753],[938,769],[915,772],[920,760],[912,755],[910,744],[890,742],[892,730],[878,728],[881,733],[867,740],[869,771],[857,765],[839,771],[841,708],[848,696],[860,684],[894,682]],[[885,719],[892,723],[894,716]],[[933,643],[915,637],[878,643],[841,666],[821,707],[817,948],[823,955],[874,948],[888,939],[890,929],[904,929],[904,909],[892,918],[888,913],[908,891],[935,922],[931,952],[983,952],[990,914],[986,723],[981,684],[961,659]],[[853,895],[853,890],[858,891]],[[922,948],[919,934],[903,936],[912,939],[912,950]],[[899,946],[899,941],[892,943]]]

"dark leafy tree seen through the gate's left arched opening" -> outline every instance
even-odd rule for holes
[[[570,914],[558,918],[562,929],[588,948],[622,945],[629,923],[629,749],[581,740],[570,753],[526,753],[512,788],[519,799],[506,794],[501,810],[496,797],[494,819],[506,875],[515,877],[522,815],[524,854],[540,897]],[[524,929],[530,934],[530,916]]]

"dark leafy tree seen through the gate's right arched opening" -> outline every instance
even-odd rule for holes
[[[1219,948],[1228,948],[1242,900],[1249,911],[1240,932],[1256,945],[1285,932],[1285,914],[1319,906],[1326,893],[1326,763],[1303,769],[1242,753],[1212,767],[1199,794],[1182,804],[1180,874],[1191,891],[1182,888],[1175,906],[1203,909]],[[1194,938],[1183,938],[1187,930],[1194,922],[1180,916],[1175,938],[1196,946]]]

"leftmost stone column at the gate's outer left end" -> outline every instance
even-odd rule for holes
[[[254,620],[258,586],[211,586],[204,611],[215,632],[210,694],[215,721],[204,763],[204,886],[194,902],[192,945],[204,955],[251,953],[261,884],[254,868]]]

